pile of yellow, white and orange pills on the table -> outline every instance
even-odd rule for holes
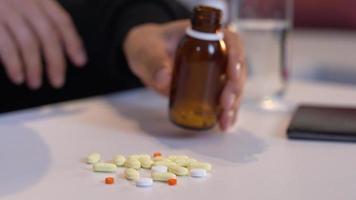
[[[137,187],[150,187],[154,181],[166,182],[168,185],[177,184],[177,176],[203,178],[211,171],[210,163],[200,162],[185,155],[163,157],[160,152],[148,154],[114,156],[112,162],[102,162],[99,153],[87,157],[87,163],[93,165],[94,172],[114,173],[118,167],[125,168],[124,175],[129,181],[135,181]],[[141,169],[150,170],[150,177],[141,177]],[[114,184],[114,177],[105,178],[106,184]]]

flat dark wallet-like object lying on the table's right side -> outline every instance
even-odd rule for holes
[[[356,108],[299,106],[287,135],[290,139],[356,142]]]

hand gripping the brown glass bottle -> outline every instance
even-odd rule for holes
[[[190,25],[188,20],[163,25],[144,24],[133,28],[124,42],[131,71],[149,88],[168,96],[176,47]],[[227,81],[220,97],[219,125],[227,131],[237,120],[246,66],[241,41],[236,33],[224,30],[229,50]]]

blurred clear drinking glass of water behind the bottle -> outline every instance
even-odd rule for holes
[[[292,28],[292,0],[231,0],[232,27],[246,50],[245,103],[265,110],[288,109],[282,101],[288,85],[286,39]],[[235,5],[234,5],[235,4]]]

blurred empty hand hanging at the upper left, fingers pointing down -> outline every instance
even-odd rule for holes
[[[10,80],[42,84],[45,61],[51,85],[65,82],[65,54],[76,66],[87,57],[70,15],[55,0],[0,0],[0,61]]]

